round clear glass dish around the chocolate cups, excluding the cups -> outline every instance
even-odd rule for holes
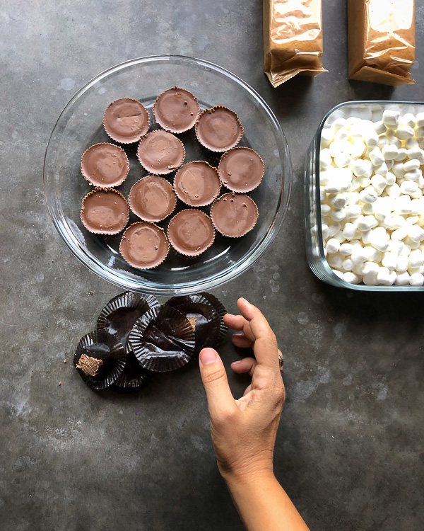
[[[186,259],[170,251],[158,268],[139,270],[132,268],[119,254],[122,233],[98,236],[83,227],[81,200],[90,185],[81,175],[81,155],[92,144],[112,142],[103,130],[102,117],[107,105],[118,98],[141,101],[148,108],[153,128],[158,128],[153,120],[152,106],[155,98],[172,86],[192,91],[199,99],[201,110],[221,104],[239,115],[245,128],[239,145],[252,147],[265,163],[261,185],[249,193],[259,208],[259,219],[252,232],[240,239],[217,234],[211,249],[197,259]],[[218,166],[219,154],[201,147],[194,130],[179,137],[186,147],[186,162],[206,160]],[[117,188],[127,197],[131,185],[146,172],[136,159],[136,144],[126,148],[126,152],[130,172]],[[172,182],[174,173],[167,177]],[[247,270],[271,245],[283,224],[291,181],[287,142],[275,115],[261,96],[242,79],[216,64],[172,55],[132,59],[112,67],[83,86],[59,115],[47,144],[44,164],[47,207],[73,254],[105,280],[127,290],[156,295],[208,290]],[[208,209],[202,210],[208,212]],[[165,230],[169,219],[160,223]],[[131,215],[130,222],[137,220]]]

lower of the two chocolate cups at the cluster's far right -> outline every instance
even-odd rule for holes
[[[248,195],[225,193],[211,206],[213,226],[223,236],[240,238],[253,229],[258,219],[258,208]]]

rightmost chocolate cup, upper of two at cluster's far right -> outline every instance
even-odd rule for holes
[[[218,166],[221,183],[233,192],[251,192],[261,184],[264,172],[264,161],[249,147],[230,149]]]

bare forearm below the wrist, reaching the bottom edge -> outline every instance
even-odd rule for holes
[[[309,531],[272,473],[225,482],[248,531]]]

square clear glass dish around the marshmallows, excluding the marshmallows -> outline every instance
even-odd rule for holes
[[[321,200],[319,197],[319,152],[321,134],[324,127],[329,127],[336,118],[358,116],[372,120],[381,120],[384,110],[397,110],[401,115],[424,112],[424,103],[413,101],[348,101],[340,103],[327,113],[318,127],[305,159],[305,244],[307,261],[317,277],[337,287],[348,287],[360,291],[423,291],[424,286],[368,286],[363,283],[351,284],[331,269],[324,254],[322,239]]]

